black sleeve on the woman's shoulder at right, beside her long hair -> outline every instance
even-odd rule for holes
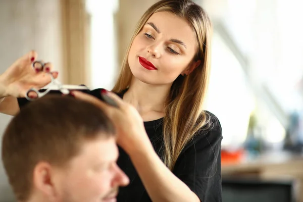
[[[173,173],[203,202],[221,202],[222,128],[211,114],[212,127],[200,132],[184,148]]]

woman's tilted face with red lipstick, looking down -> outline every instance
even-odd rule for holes
[[[195,33],[184,19],[170,12],[154,13],[131,44],[130,70],[144,83],[171,84],[199,65],[192,62],[196,44]]]

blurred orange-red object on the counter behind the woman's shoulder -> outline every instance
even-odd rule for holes
[[[230,165],[230,164],[238,164],[244,158],[244,149],[237,149],[237,150],[221,150],[221,164],[222,165]]]

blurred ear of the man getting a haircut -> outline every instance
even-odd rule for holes
[[[46,197],[56,197],[54,173],[47,162],[39,162],[33,171],[33,188]]]

